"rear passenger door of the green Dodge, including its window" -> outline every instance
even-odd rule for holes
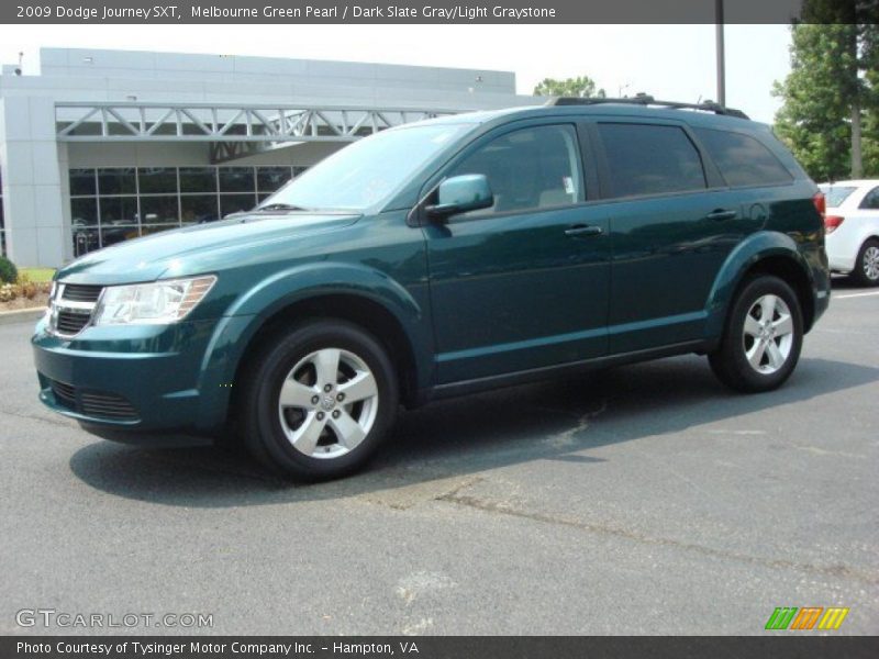
[[[703,338],[714,279],[753,230],[739,194],[683,123],[613,118],[592,130],[613,247],[610,353]]]

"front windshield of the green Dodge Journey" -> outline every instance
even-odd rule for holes
[[[297,177],[260,208],[364,211],[391,197],[469,124],[432,124],[364,137]]]

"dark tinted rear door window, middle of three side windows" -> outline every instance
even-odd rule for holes
[[[678,126],[600,123],[611,197],[705,188],[702,158]]]

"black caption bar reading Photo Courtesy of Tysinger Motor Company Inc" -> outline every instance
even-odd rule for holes
[[[3,659],[874,659],[877,637],[4,636]]]

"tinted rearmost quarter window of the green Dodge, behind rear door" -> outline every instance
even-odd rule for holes
[[[749,135],[694,129],[727,186],[771,186],[793,180],[766,146]]]

